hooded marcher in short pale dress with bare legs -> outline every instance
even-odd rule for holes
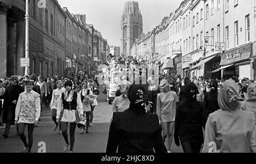
[[[168,136],[167,150],[171,152],[172,136],[174,133],[175,111],[177,95],[171,91],[170,84],[166,79],[160,82],[160,91],[156,101],[156,113],[159,116],[163,141],[166,141]]]

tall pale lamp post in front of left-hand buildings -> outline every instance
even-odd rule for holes
[[[25,15],[25,20],[26,20],[26,42],[25,42],[25,58],[29,58],[29,39],[28,39],[28,23],[30,16],[28,15],[28,6],[29,0],[26,0],[26,15]],[[29,74],[29,67],[25,67],[25,75]]]

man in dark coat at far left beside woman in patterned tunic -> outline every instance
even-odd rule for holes
[[[11,76],[11,85],[6,89],[5,94],[0,96],[3,99],[3,123],[6,123],[3,137],[7,139],[10,133],[11,124],[14,125],[15,108],[18,102],[19,94],[24,92],[22,86],[18,85],[19,77]],[[18,134],[18,127],[16,128]]]

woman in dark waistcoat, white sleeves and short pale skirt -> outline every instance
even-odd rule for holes
[[[68,141],[68,123],[70,135],[70,149],[73,153],[73,146],[75,144],[75,130],[76,124],[79,122],[79,117],[83,118],[84,110],[82,110],[82,101],[80,95],[72,89],[72,81],[67,80],[64,84],[66,90],[61,94],[57,106],[57,122],[60,120],[61,132],[65,140],[64,152],[67,152],[69,147]]]

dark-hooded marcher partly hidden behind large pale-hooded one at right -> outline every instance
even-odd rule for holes
[[[212,80],[210,82],[208,92],[205,92],[204,105],[207,115],[220,109],[218,106],[218,81]]]

